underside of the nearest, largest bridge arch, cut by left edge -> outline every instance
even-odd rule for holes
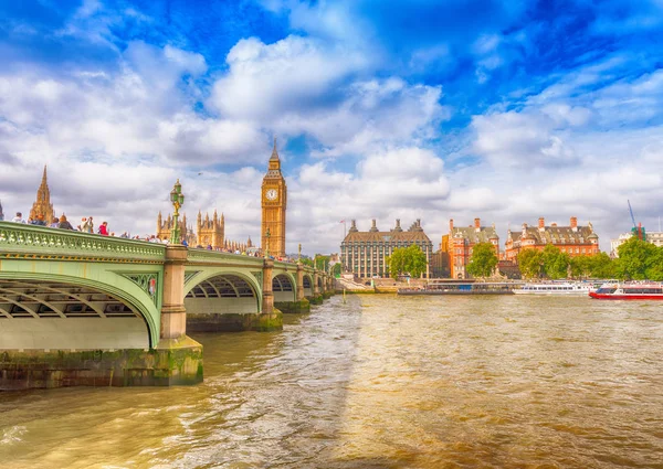
[[[61,280],[0,278],[0,349],[148,349],[138,307],[113,292]]]

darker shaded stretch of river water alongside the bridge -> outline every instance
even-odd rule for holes
[[[197,386],[0,394],[2,467],[407,467],[412,452],[352,444],[362,301],[336,296],[278,332],[192,334],[204,347]]]

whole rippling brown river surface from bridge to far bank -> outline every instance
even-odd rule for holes
[[[663,468],[662,307],[336,296],[198,386],[0,394],[0,467]]]

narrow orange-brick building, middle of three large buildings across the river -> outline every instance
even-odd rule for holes
[[[467,264],[472,260],[472,248],[478,243],[491,243],[495,246],[495,255],[499,257],[499,236],[495,225],[482,226],[481,218],[474,218],[470,226],[454,226],[449,221],[449,236],[442,238],[441,251],[449,253],[451,278],[467,278]]]

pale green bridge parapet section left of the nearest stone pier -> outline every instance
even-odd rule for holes
[[[0,258],[161,264],[166,246],[69,230],[0,222]]]

